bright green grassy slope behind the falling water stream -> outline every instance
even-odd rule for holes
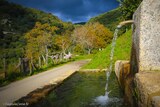
[[[117,60],[129,60],[131,51],[131,30],[121,35],[116,41],[113,63]],[[87,65],[82,69],[105,69],[110,64],[111,44],[103,51],[95,54]],[[114,66],[113,66],[114,67]]]

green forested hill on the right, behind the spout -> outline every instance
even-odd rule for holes
[[[109,28],[111,31],[114,31],[120,21],[122,21],[122,13],[120,8],[117,8],[99,16],[93,17],[88,22],[99,22]]]

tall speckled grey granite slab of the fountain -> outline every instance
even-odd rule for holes
[[[143,0],[133,19],[131,70],[160,70],[160,0]]]

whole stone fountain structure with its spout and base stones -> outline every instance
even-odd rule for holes
[[[160,1],[143,0],[118,28],[133,22],[130,61],[117,61],[115,73],[131,107],[160,107]]]

